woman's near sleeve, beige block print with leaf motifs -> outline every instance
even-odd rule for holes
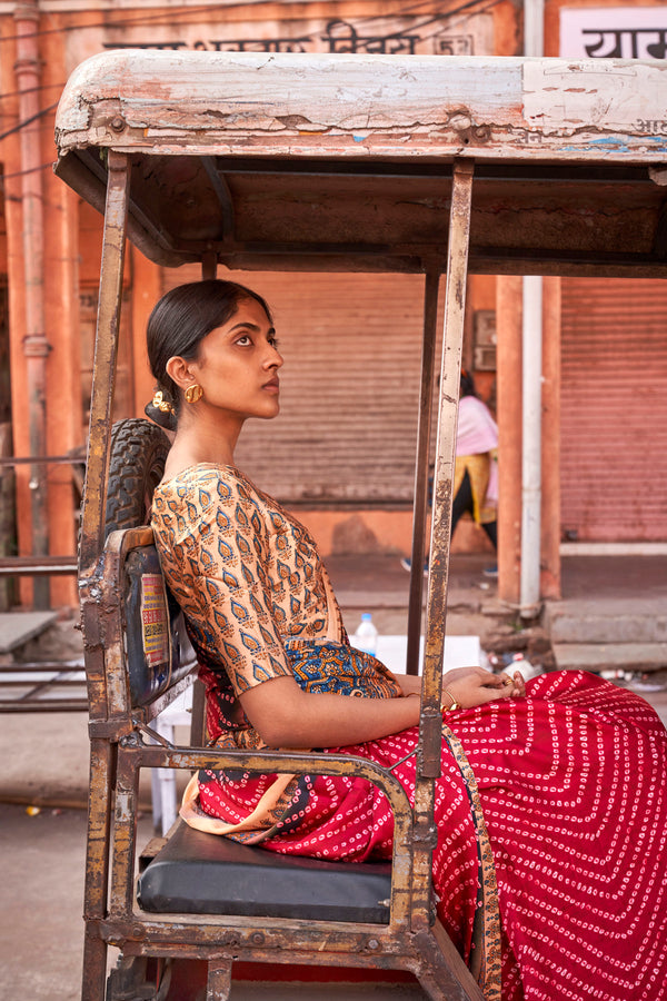
[[[270,521],[242,483],[221,476],[190,486],[188,502],[195,529],[188,557],[200,608],[197,642],[225,663],[237,695],[291,674],[267,574]]]

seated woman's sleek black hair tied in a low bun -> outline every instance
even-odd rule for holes
[[[259,303],[272,323],[269,307],[260,295],[243,285],[217,278],[179,285],[158,301],[146,331],[150,370],[158,384],[156,397],[146,407],[147,416],[152,420],[162,427],[176,427],[180,392],[167,374],[169,359],[175,356],[187,361],[197,358],[203,338],[231,319],[243,299]],[[157,399],[161,404],[157,404]]]

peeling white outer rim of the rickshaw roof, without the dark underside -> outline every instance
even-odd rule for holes
[[[112,145],[660,162],[666,93],[657,60],[125,50],[74,71],[56,135],[61,153]]]

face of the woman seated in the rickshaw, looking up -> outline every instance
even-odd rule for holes
[[[275,417],[279,409],[278,369],[282,357],[276,331],[255,299],[240,299],[233,316],[199,345],[189,368],[203,389],[197,406],[246,417]]]

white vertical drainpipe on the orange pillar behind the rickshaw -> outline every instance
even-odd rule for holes
[[[524,0],[524,51],[544,54],[544,0]],[[524,277],[521,459],[521,618],[540,607],[542,279]]]

